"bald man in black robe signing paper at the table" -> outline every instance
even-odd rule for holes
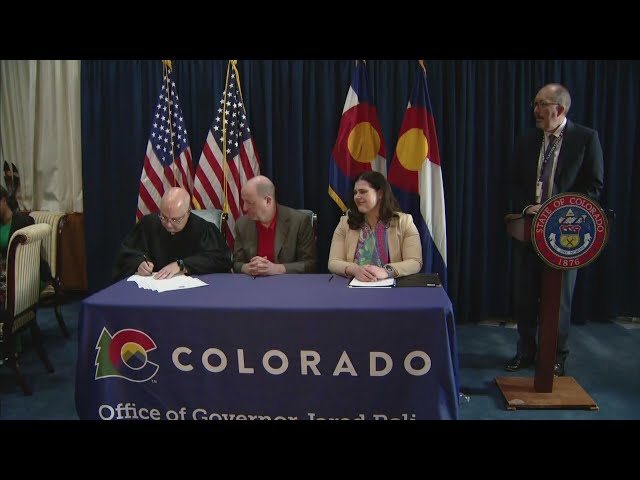
[[[191,215],[190,200],[182,187],[165,192],[160,212],[143,216],[122,242],[113,268],[114,281],[136,273],[165,279],[180,273],[231,270],[231,252],[220,230]]]

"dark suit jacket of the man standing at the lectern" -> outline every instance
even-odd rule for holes
[[[536,203],[542,136],[542,130],[536,128],[516,141],[511,162],[512,212],[522,212]],[[598,132],[567,119],[553,182],[554,193],[582,193],[597,201],[604,186],[603,178],[604,161]]]

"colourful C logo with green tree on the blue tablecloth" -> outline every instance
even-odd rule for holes
[[[96,380],[108,377],[131,382],[151,380],[160,368],[148,356],[156,348],[151,337],[140,330],[128,328],[111,335],[103,328],[96,344]]]

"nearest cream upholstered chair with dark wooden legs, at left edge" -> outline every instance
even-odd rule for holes
[[[2,321],[2,353],[13,370],[25,395],[32,390],[22,375],[15,352],[15,336],[30,328],[36,352],[47,371],[53,373],[36,321],[40,301],[40,250],[43,240],[51,236],[51,227],[37,223],[16,230],[7,249],[6,298]]]

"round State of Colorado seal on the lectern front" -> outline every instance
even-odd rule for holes
[[[585,195],[563,193],[547,200],[533,219],[538,256],[559,270],[582,268],[600,254],[609,229],[602,208]]]

